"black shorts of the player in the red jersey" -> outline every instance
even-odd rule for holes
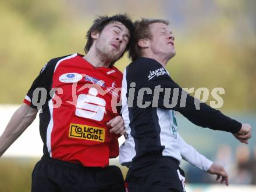
[[[32,173],[32,192],[124,192],[118,166],[85,167],[42,157]]]

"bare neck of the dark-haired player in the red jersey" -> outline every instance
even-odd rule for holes
[[[108,68],[109,65],[111,64],[111,61],[108,60],[106,57],[103,57],[101,55],[97,55],[96,53],[93,52],[88,52],[84,57],[87,62],[92,64],[94,67],[106,67]]]

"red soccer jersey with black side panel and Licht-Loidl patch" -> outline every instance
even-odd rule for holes
[[[44,154],[84,166],[107,166],[118,156],[118,136],[106,123],[116,117],[122,73],[98,67],[77,53],[50,60],[34,80],[24,103],[42,108]]]

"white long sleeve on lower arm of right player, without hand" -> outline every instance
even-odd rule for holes
[[[182,155],[183,160],[190,162],[190,164],[197,166],[203,171],[208,171],[212,165],[212,161],[204,157],[204,155],[198,153],[194,147],[187,144],[182,137],[177,133],[177,139],[180,147],[180,154]]]

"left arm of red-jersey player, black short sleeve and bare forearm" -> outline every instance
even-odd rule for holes
[[[0,137],[0,156],[34,121],[37,111],[42,107],[35,106],[35,103],[40,101],[42,97],[42,93],[34,95],[35,90],[37,90],[37,88],[45,89],[47,91],[47,100],[50,99],[52,75],[54,74],[55,66],[59,59],[61,59],[61,57],[50,60],[47,65],[41,69],[37,78],[34,79],[34,82],[23,101],[25,104],[15,111],[9,124],[6,126],[5,131]]]

